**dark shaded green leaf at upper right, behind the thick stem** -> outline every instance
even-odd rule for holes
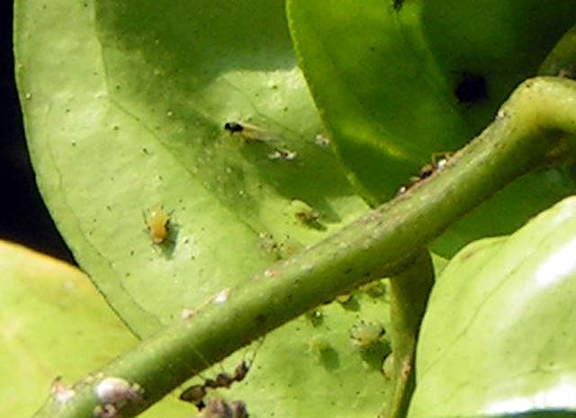
[[[480,133],[519,82],[536,75],[575,16],[571,0],[290,0],[288,12],[322,120],[373,205],[389,200],[435,153]],[[477,102],[462,102],[456,92],[471,76],[486,89]],[[529,175],[434,249],[451,256],[479,236],[509,233],[573,189],[569,173]]]

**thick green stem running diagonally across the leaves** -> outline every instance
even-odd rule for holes
[[[74,387],[66,403],[49,400],[35,416],[85,418],[105,377],[138,383],[141,402],[121,416],[139,414],[193,372],[342,292],[401,272],[420,249],[506,184],[537,166],[573,156],[576,82],[535,78],[521,84],[480,137],[439,173],[375,209],[317,245],[257,275],[241,289],[224,291],[192,317],[176,321],[113,360],[95,378]],[[202,355],[199,355],[199,352]]]

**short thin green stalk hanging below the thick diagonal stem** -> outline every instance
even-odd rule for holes
[[[402,418],[408,412],[416,385],[416,342],[433,285],[434,266],[428,250],[423,250],[408,269],[390,279],[394,391],[381,414],[384,417]]]

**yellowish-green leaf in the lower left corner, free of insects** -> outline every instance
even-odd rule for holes
[[[73,383],[136,339],[81,271],[0,242],[0,415],[29,417],[58,376]],[[144,417],[185,417],[173,396]]]

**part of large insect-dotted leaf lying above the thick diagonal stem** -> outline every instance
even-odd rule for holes
[[[366,209],[315,143],[282,2],[20,0],[15,51],[40,190],[139,335]],[[277,140],[243,144],[230,120]],[[159,209],[168,235],[154,244]]]

